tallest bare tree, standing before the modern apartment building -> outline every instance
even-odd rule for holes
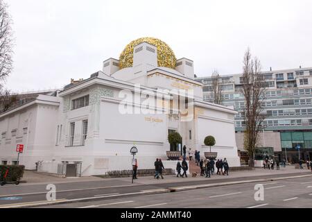
[[[244,148],[249,156],[250,167],[254,167],[254,152],[257,147],[258,133],[262,129],[262,122],[265,118],[263,115],[265,81],[261,75],[261,63],[257,58],[252,58],[250,49],[245,52],[243,63],[241,92],[245,96]]]

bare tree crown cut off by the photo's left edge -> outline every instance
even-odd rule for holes
[[[0,80],[12,71],[12,19],[8,5],[0,0]]]

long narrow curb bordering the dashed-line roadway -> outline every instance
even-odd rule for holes
[[[27,207],[42,207],[42,206],[48,206],[48,205],[58,205],[58,204],[64,204],[64,203],[79,203],[79,202],[85,202],[87,200],[103,200],[105,198],[109,197],[118,197],[118,196],[132,196],[132,195],[138,195],[138,194],[165,194],[165,193],[171,193],[171,192],[177,192],[177,191],[187,191],[192,189],[204,189],[208,187],[224,187],[228,185],[239,185],[239,184],[245,184],[245,183],[252,183],[252,182],[269,182],[269,181],[275,181],[275,180],[287,180],[287,179],[293,179],[293,178],[306,178],[311,177],[311,175],[302,175],[302,176],[288,176],[288,177],[281,177],[281,178],[266,178],[266,179],[256,179],[256,180],[241,180],[241,181],[232,181],[232,182],[218,182],[218,183],[212,183],[207,185],[191,185],[191,186],[184,186],[184,187],[168,187],[164,189],[150,189],[150,190],[143,190],[139,192],[134,193],[126,193],[126,194],[114,194],[114,195],[107,195],[107,196],[96,196],[96,197],[89,197],[89,198],[76,198],[76,199],[61,199],[61,200],[55,200],[55,201],[49,201],[46,203],[21,203],[21,205],[7,205],[2,208],[27,208]],[[1,207],[1,205],[0,205]]]

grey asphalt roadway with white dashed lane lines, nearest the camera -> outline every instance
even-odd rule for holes
[[[194,189],[166,194],[150,194],[91,200],[46,206],[48,208],[261,208],[312,207],[312,178],[263,182],[264,200],[254,200],[257,183]]]

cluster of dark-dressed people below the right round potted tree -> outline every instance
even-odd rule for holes
[[[229,175],[229,163],[227,162],[227,158],[218,159],[217,162],[215,162],[214,159],[210,160],[200,160],[200,176],[206,176],[207,178],[210,178],[210,175],[214,175],[214,166],[216,165],[216,174],[224,176],[225,174]],[[224,169],[224,171],[223,171]]]

